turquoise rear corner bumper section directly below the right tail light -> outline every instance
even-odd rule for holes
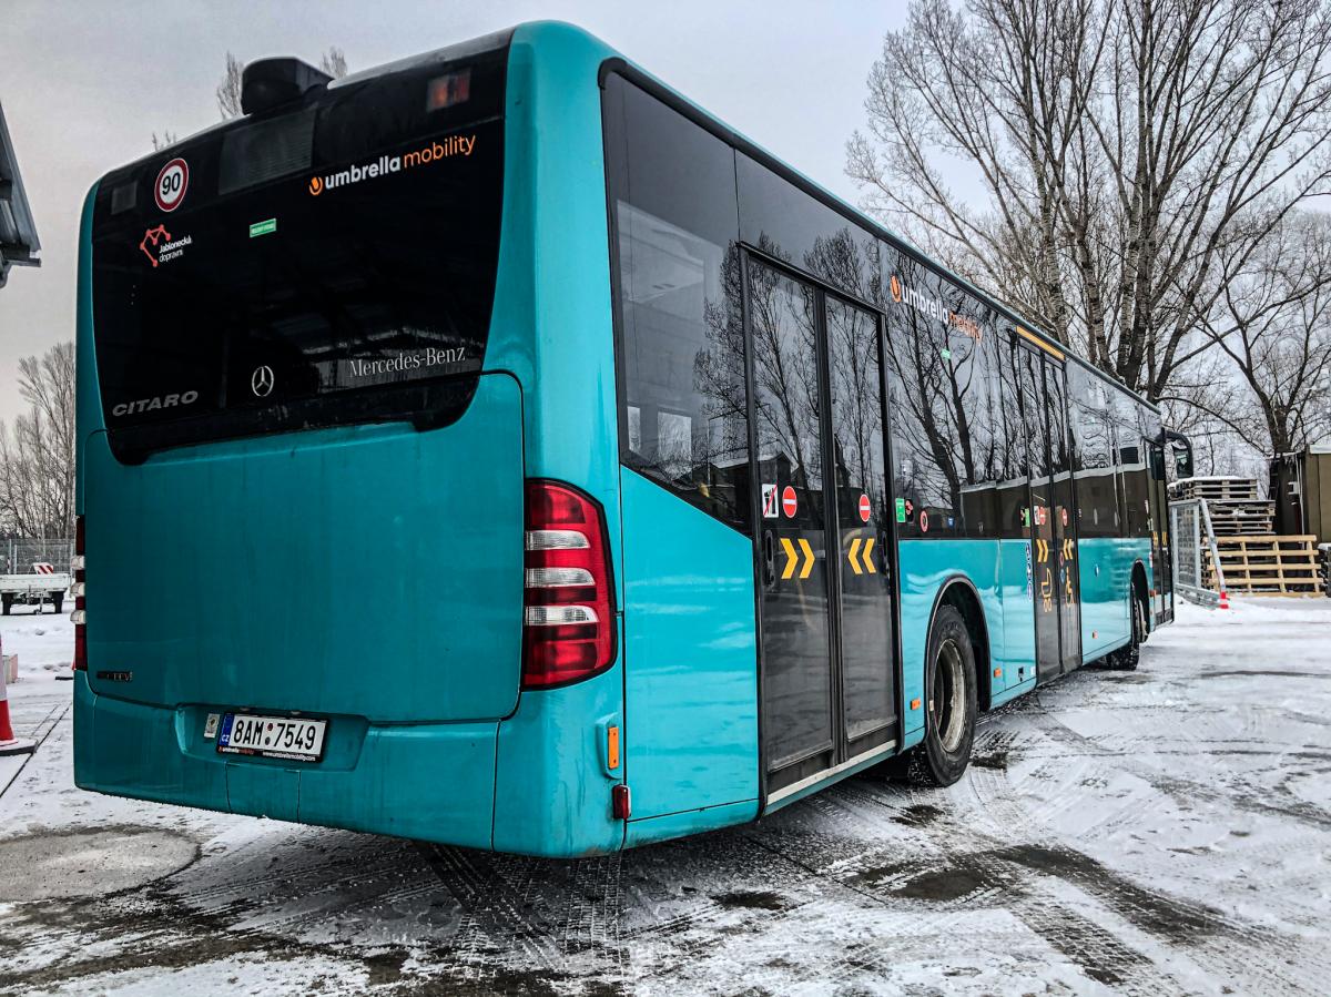
[[[623,647],[623,634],[620,634]],[[620,656],[620,662],[623,656]],[[499,724],[494,783],[496,852],[576,859],[623,848],[624,821],[611,791],[624,771],[610,768],[610,727],[624,731],[623,666],[586,682],[522,694]]]

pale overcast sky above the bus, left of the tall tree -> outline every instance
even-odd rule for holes
[[[218,120],[225,53],[329,45],[351,71],[524,20],[599,35],[792,166],[851,201],[845,140],[905,0],[0,0],[0,104],[41,238],[40,269],[0,289],[0,418],[23,410],[19,358],[73,338],[79,210],[101,174]]]

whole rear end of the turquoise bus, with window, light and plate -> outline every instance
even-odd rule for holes
[[[622,845],[602,55],[274,64],[89,194],[79,785]]]

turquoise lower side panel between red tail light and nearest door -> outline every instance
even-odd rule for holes
[[[620,481],[634,819],[756,800],[752,540],[634,471]],[[671,833],[733,820],[695,817]]]

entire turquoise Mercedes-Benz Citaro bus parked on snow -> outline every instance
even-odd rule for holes
[[[83,214],[80,787],[608,852],[1171,618],[1158,411],[590,35],[244,99]]]

